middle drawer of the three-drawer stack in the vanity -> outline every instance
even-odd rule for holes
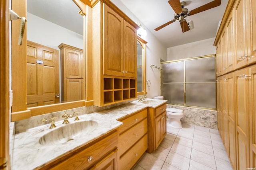
[[[120,156],[148,131],[148,120],[144,119],[119,137]]]

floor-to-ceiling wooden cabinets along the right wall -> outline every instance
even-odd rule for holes
[[[237,170],[256,167],[255,8],[254,0],[230,0],[214,42],[218,130]]]

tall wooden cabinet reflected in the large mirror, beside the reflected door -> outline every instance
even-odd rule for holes
[[[61,101],[84,99],[84,55],[83,50],[60,44]]]

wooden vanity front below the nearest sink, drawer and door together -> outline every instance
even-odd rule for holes
[[[42,170],[84,170],[109,169],[119,170],[117,130],[96,139],[92,143],[59,158],[41,168]],[[91,158],[91,160],[89,160]]]

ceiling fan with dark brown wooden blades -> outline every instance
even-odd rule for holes
[[[167,25],[175,22],[176,20],[180,21],[180,26],[182,29],[182,32],[186,32],[188,30],[190,30],[187,21],[185,20],[185,18],[187,16],[192,16],[194,14],[197,14],[199,12],[203,12],[206,10],[209,10],[211,8],[214,8],[216,6],[219,6],[221,3],[221,0],[214,0],[212,2],[209,2],[208,4],[205,4],[203,6],[200,6],[194,10],[188,11],[187,8],[184,8],[186,2],[180,2],[180,0],[169,0],[168,1],[170,6],[172,7],[172,9],[174,10],[174,12],[176,13],[174,16],[174,19],[164,23],[163,25],[161,25],[160,27],[157,27],[155,30],[158,31],[159,29],[162,29],[163,27],[166,27]]]

